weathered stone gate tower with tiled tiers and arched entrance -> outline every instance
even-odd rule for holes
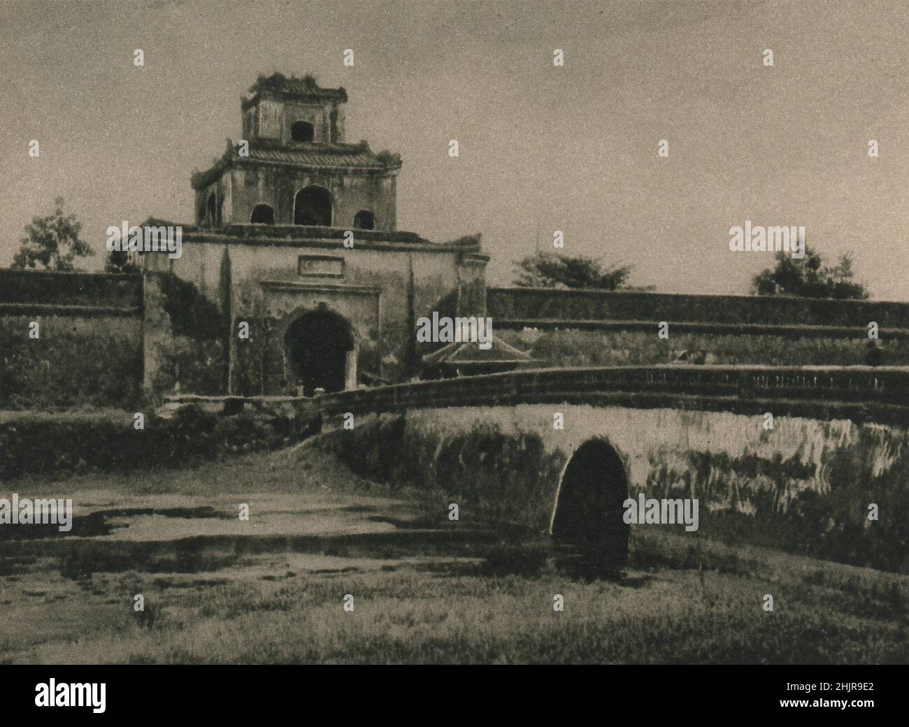
[[[242,140],[193,175],[182,256],[144,256],[146,271],[194,284],[223,315],[224,393],[400,381],[425,353],[420,316],[485,312],[480,236],[438,244],[396,230],[401,158],[345,142],[346,101],[312,76],[260,76],[241,102]],[[154,341],[146,352],[147,382]]]

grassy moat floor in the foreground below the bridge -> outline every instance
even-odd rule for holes
[[[639,529],[624,578],[588,582],[556,568],[540,539],[422,537],[421,503],[388,499],[306,447],[6,489],[196,506],[279,493],[301,511],[318,501],[323,514],[397,527],[350,521],[351,533],[265,550],[203,537],[191,561],[161,553],[140,571],[23,555],[0,575],[0,662],[909,662],[907,576]]]

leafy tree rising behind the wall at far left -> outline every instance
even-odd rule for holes
[[[64,214],[64,204],[64,198],[57,197],[54,214],[33,217],[31,224],[25,225],[22,247],[13,257],[11,268],[25,270],[40,265],[45,270],[75,270],[76,257],[95,254],[79,236],[82,223],[75,219],[75,214]]]

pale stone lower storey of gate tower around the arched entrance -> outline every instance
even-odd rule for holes
[[[184,234],[180,259],[154,255],[148,264],[160,272],[173,270],[229,315],[231,393],[284,393],[287,328],[320,304],[351,324],[358,371],[399,381],[413,370],[415,318],[433,311],[483,313],[486,258],[475,247],[381,236],[361,234],[351,249],[341,237],[249,239],[190,232]],[[325,270],[334,272],[301,274],[301,256],[320,258]],[[236,336],[241,321],[250,324],[249,340]]]

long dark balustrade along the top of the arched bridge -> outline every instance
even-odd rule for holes
[[[909,367],[665,364],[528,369],[399,383],[315,399],[325,413],[608,401],[731,411],[746,408],[749,402],[787,402],[790,409],[801,404],[831,413],[885,410],[909,422]]]

